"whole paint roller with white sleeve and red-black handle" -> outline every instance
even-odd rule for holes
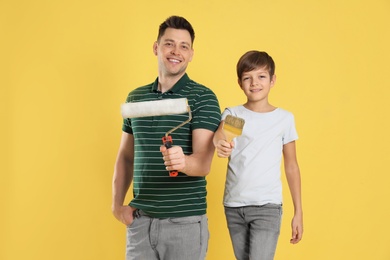
[[[172,136],[170,136],[170,134],[190,122],[192,119],[191,109],[188,105],[187,98],[124,103],[121,105],[121,113],[123,118],[164,116],[188,113],[188,119],[186,121],[172,128],[165,133],[164,137],[162,137],[162,142],[167,149],[171,148],[173,143]],[[178,171],[169,172],[169,176],[171,177],[176,177],[178,174]]]

